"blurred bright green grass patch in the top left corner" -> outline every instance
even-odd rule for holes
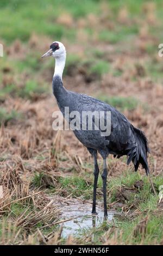
[[[0,22],[3,23],[3,26],[0,28],[0,35],[9,43],[15,39],[27,41],[32,31],[40,35],[49,35],[57,40],[60,40],[62,36],[74,40],[75,29],[67,29],[57,24],[57,17],[65,10],[65,13],[70,13],[76,19],[76,17],[86,16],[90,9],[94,13],[98,13],[98,4],[94,4],[92,0],[85,1],[85,4],[81,1],[74,4],[73,0],[62,2],[59,0],[46,2],[36,0],[33,8],[32,0],[2,1]],[[10,19],[6,19],[6,17],[10,17]],[[41,26],[40,21],[43,21]]]

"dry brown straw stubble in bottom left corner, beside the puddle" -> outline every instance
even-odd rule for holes
[[[41,230],[54,227],[58,219],[60,210],[55,201],[30,188],[15,169],[2,170],[0,184],[1,244],[42,243]]]

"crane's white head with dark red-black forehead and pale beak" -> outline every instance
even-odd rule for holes
[[[43,54],[41,58],[48,57],[48,56],[53,56],[55,59],[65,57],[66,56],[65,46],[58,41],[52,42],[52,44],[50,45],[49,51]]]

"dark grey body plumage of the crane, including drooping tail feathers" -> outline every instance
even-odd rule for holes
[[[121,157],[128,156],[127,164],[133,161],[135,171],[142,164],[146,174],[149,173],[147,153],[148,142],[145,134],[134,127],[128,119],[117,109],[85,94],[74,93],[66,90],[59,76],[53,77],[53,94],[57,99],[60,111],[64,115],[65,107],[70,112],[78,111],[110,111],[111,134],[108,137],[101,136],[100,131],[75,130],[74,134],[80,142],[90,151],[97,150],[103,158],[109,154]]]

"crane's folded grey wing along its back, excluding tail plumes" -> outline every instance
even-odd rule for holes
[[[133,126],[128,119],[117,109],[106,104],[103,101],[97,100],[94,97],[90,97],[84,94],[76,94],[77,106],[79,112],[91,111],[91,112],[110,112],[111,113],[111,132],[109,136],[105,136],[108,147],[112,153],[123,151],[129,151],[135,147],[136,139],[134,136]],[[106,115],[105,115],[106,123]],[[106,123],[107,124],[107,123]],[[99,126],[100,129],[100,126]],[[101,130],[101,132],[104,132]],[[125,152],[124,152],[125,154]]]

